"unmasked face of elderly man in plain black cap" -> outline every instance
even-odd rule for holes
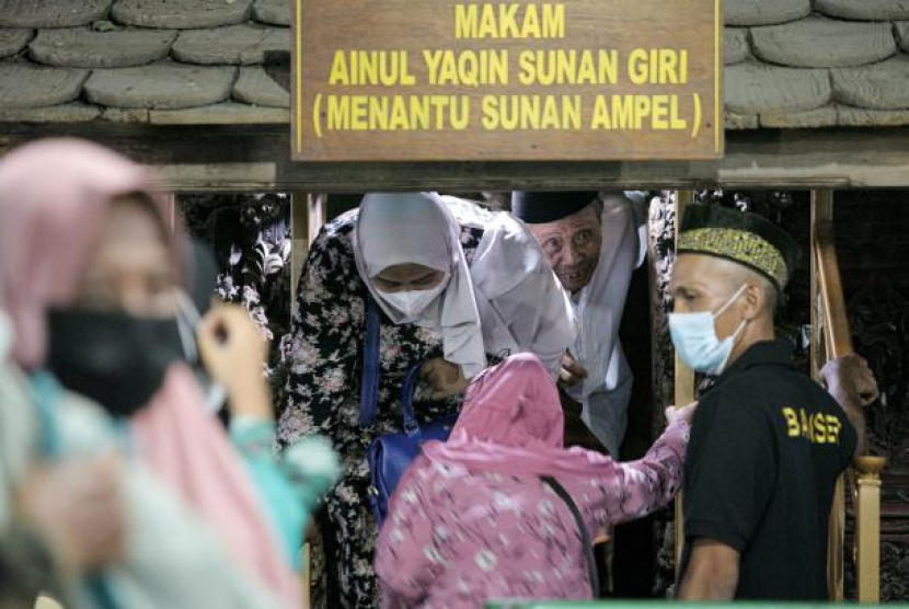
[[[590,283],[602,246],[602,227],[595,205],[544,225],[529,225],[562,287],[576,292]]]

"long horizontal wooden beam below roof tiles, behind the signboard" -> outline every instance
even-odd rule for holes
[[[54,135],[154,165],[177,191],[909,187],[909,127],[729,131],[716,162],[294,163],[286,125],[2,124],[0,153]]]

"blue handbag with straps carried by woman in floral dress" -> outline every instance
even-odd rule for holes
[[[419,455],[424,443],[447,440],[458,414],[452,413],[421,426],[414,415],[414,392],[419,377],[421,361],[407,371],[401,390],[404,411],[403,430],[379,436],[369,446],[369,503],[378,528],[388,515],[388,504],[407,467]],[[369,425],[376,417],[379,386],[379,311],[372,300],[367,307],[364,368],[360,386],[360,424]]]

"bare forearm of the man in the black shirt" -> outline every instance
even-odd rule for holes
[[[738,587],[738,552],[714,539],[698,539],[682,574],[678,600],[732,600]]]

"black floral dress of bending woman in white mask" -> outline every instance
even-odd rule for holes
[[[298,309],[286,353],[290,361],[278,441],[287,446],[319,434],[341,455],[344,475],[325,497],[320,529],[324,556],[313,556],[313,607],[367,609],[379,606],[372,571],[378,531],[369,507],[367,450],[382,434],[401,429],[401,386],[421,360],[442,355],[438,333],[394,325],[382,317],[379,407],[369,426],[359,423],[359,389],[366,333],[367,288],[357,274],[350,234],[357,210],[327,223],[310,248],[300,277]],[[482,228],[462,227],[461,245],[473,260]],[[460,401],[428,402],[417,390],[417,418],[457,411]],[[324,573],[318,573],[324,559]]]

